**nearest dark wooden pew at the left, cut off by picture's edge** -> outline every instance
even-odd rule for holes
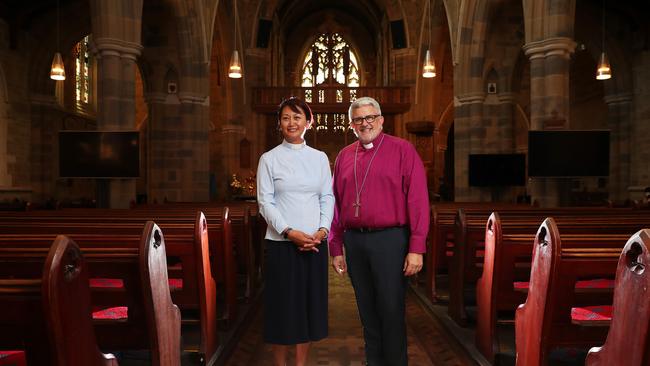
[[[2,344],[20,347],[25,342],[30,364],[117,365],[113,355],[97,347],[87,266],[77,245],[65,236],[49,249],[41,278],[0,280],[0,305]]]

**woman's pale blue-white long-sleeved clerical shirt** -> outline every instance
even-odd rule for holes
[[[286,241],[280,233],[288,227],[307,235],[329,230],[334,195],[327,155],[287,141],[264,153],[257,167],[257,203],[268,223],[266,239]]]

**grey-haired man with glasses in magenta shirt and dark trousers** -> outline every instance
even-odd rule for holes
[[[368,365],[407,365],[406,277],[422,269],[429,230],[424,166],[413,145],[382,132],[376,100],[357,99],[348,115],[359,141],[334,167],[332,266],[350,274]]]

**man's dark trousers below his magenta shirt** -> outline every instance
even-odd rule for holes
[[[408,365],[406,277],[402,271],[408,252],[408,229],[346,230],[343,241],[368,365]]]

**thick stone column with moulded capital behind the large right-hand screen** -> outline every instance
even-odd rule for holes
[[[524,45],[530,59],[531,130],[562,130],[569,127],[569,66],[576,43],[553,37]],[[530,187],[533,200],[542,207],[560,206],[568,191],[563,179],[535,178]]]

